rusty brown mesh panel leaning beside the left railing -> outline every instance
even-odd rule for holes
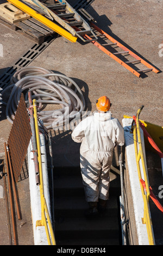
[[[9,153],[16,182],[18,181],[18,176],[21,173],[31,137],[32,132],[30,129],[26,103],[24,101],[24,95],[21,94],[20,102],[18,103],[16,115],[8,138]]]

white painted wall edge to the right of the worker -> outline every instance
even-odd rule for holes
[[[133,119],[130,119],[130,118],[122,119],[122,126],[124,129],[124,139],[125,139],[125,147],[126,147],[126,156],[127,156],[126,161],[128,165],[128,171],[129,171],[131,196],[133,198],[135,222],[136,222],[137,237],[138,237],[139,245],[149,245],[146,224],[142,224],[144,207],[143,207],[143,198],[141,193],[139,176],[137,173],[134,138],[133,138],[133,133],[130,133],[132,121]],[[143,153],[145,157],[145,164],[147,166],[146,155],[145,155],[145,143],[144,143],[143,131],[141,128],[140,128],[140,132],[141,132]],[[141,161],[140,161],[140,169],[141,169],[141,175],[143,179]]]

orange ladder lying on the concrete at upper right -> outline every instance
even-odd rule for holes
[[[104,35],[105,38],[109,39],[111,41],[110,44],[105,44],[105,45],[101,45],[99,44],[98,41],[91,41],[93,45],[97,46],[100,50],[102,50],[103,52],[105,52],[106,54],[108,54],[112,59],[116,60],[116,62],[120,63],[122,66],[124,66],[124,68],[128,69],[130,72],[132,72],[134,75],[136,75],[137,77],[141,76],[141,72],[147,72],[147,71],[153,71],[155,73],[160,72],[158,69],[156,69],[154,66],[152,66],[151,64],[149,64],[148,62],[146,62],[145,60],[143,60],[141,57],[137,56],[137,54],[135,54],[134,52],[130,51],[126,46],[122,45],[120,42],[118,42],[116,39],[112,38],[110,35],[108,35],[107,33],[105,33],[104,31],[102,31],[102,29],[98,28],[94,23],[90,22],[90,25],[92,28],[95,29],[95,31],[97,31],[98,33],[100,33],[101,35]],[[88,35],[84,35],[85,38],[90,39],[90,37]],[[112,46],[112,45],[117,45],[118,47],[120,47],[123,51],[121,52],[110,52],[109,50],[107,50],[105,48],[105,46]],[[128,53],[130,56],[132,56],[134,58],[134,60],[131,61],[127,61],[127,62],[123,62],[123,60],[121,60],[120,58],[118,58],[118,55],[122,55],[123,53]],[[137,63],[140,62],[143,65],[145,65],[148,69],[143,69],[143,70],[135,70],[133,68],[131,68],[131,66],[129,66],[128,64],[133,64],[133,63]]]

